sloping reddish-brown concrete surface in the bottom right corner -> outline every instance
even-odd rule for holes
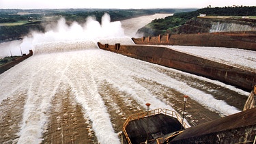
[[[171,143],[253,143],[256,108],[184,130]]]

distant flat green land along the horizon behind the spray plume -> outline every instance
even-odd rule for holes
[[[59,18],[66,18],[70,25],[73,21],[85,23],[88,16],[94,16],[101,23],[104,13],[111,16],[112,21],[145,16],[156,13],[188,12],[195,9],[150,9],[150,10],[117,10],[117,9],[61,9],[61,10],[0,10],[0,42],[2,40],[19,39],[29,31],[42,31],[44,26],[57,23]]]

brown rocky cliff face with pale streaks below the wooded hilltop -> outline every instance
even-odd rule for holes
[[[184,25],[167,30],[167,33],[188,34],[188,33],[213,33],[213,32],[242,32],[256,31],[256,19],[248,16],[197,16],[187,20]],[[147,35],[147,31],[139,31]],[[154,35],[154,33],[149,33]],[[156,36],[156,35],[154,35]]]

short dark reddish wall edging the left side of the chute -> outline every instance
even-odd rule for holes
[[[20,63],[21,61],[24,61],[25,59],[31,57],[32,55],[33,55],[33,51],[29,50],[28,55],[23,55],[23,57],[20,57],[20,58],[16,59],[15,61],[11,61],[10,63],[6,63],[3,66],[0,66],[0,74],[5,72],[6,70],[9,70],[10,68],[15,66],[16,64]]]

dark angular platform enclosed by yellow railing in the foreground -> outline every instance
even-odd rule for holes
[[[166,109],[164,109],[165,111]],[[160,111],[162,111],[160,109]],[[175,112],[173,112],[175,113]],[[143,113],[146,114],[146,113]],[[175,115],[177,115],[175,113]],[[151,115],[147,117],[144,115],[144,117],[136,117],[139,115],[136,115],[133,117],[132,120],[128,119],[128,122],[124,124],[124,134],[130,141],[128,143],[143,143],[147,140],[149,143],[160,138],[165,137],[167,134],[176,132],[183,129],[184,126],[182,126],[179,118],[171,117],[170,115],[166,115],[165,113],[156,113],[156,115]],[[148,135],[147,135],[147,119],[148,119]],[[186,127],[186,126],[185,126]]]

